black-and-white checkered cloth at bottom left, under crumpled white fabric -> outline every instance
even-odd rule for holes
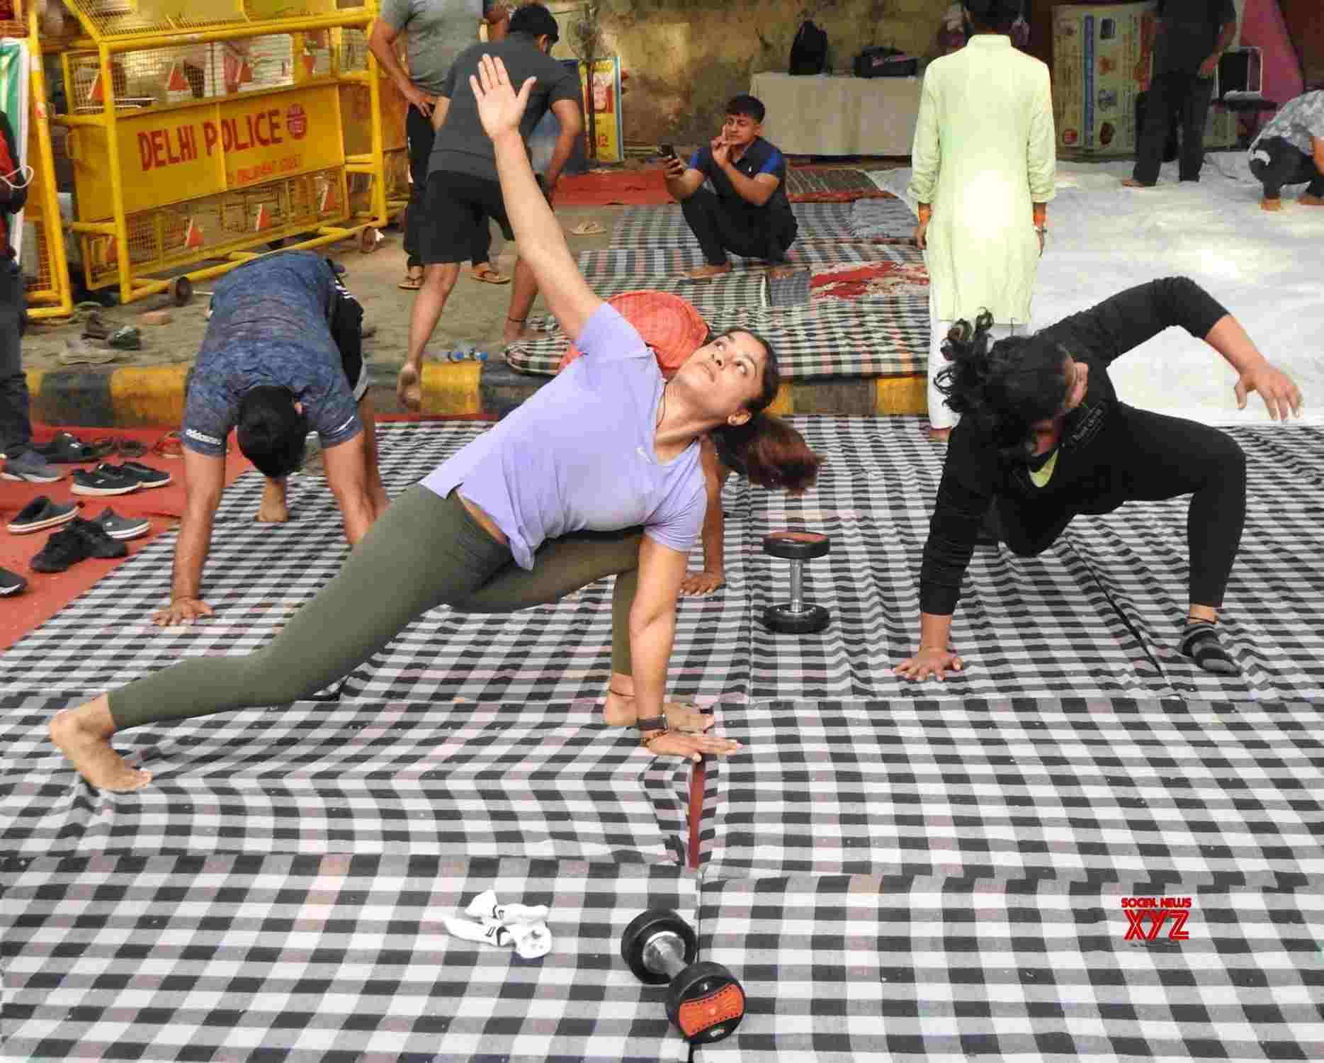
[[[675,867],[466,855],[81,856],[0,864],[0,1052],[15,1060],[683,1063],[620,957]],[[451,937],[485,890],[547,904],[552,952]]]

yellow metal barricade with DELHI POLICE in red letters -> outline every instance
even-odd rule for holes
[[[338,0],[66,0],[86,37],[60,53],[89,289],[120,302],[217,277],[294,237],[376,246],[385,180],[376,62],[344,70],[371,8]],[[354,3],[354,0],[340,0]],[[367,52],[367,49],[363,49]],[[365,83],[365,151],[347,154],[342,90]],[[356,142],[357,143],[357,142]],[[356,208],[350,181],[368,189]],[[220,259],[220,265],[217,261]],[[172,279],[151,274],[177,271]]]

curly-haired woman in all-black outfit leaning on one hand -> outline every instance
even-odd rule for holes
[[[1190,495],[1190,610],[1181,650],[1206,671],[1237,674],[1215,624],[1246,519],[1246,458],[1223,432],[1117,401],[1107,367],[1181,326],[1237,371],[1237,402],[1256,391],[1274,420],[1300,416],[1300,389],[1245,330],[1185,277],[1139,285],[1033,336],[989,344],[988,315],[957,322],[939,388],[961,414],[947,451],[920,571],[919,651],[906,679],[960,671],[948,645],[974,543],[996,535],[1019,556],[1047,549],[1076,514]]]

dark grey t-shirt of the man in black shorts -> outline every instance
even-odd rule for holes
[[[441,90],[441,95],[450,101],[450,107],[446,111],[446,120],[437,131],[437,139],[432,143],[429,173],[445,169],[496,180],[496,155],[491,139],[478,120],[478,101],[474,98],[474,90],[469,87],[469,77],[478,74],[478,61],[483,56],[498,57],[506,64],[511,85],[523,85],[528,78],[538,78],[528,106],[524,107],[524,116],[519,122],[519,134],[526,144],[534,127],[553,103],[571,99],[579,106],[577,69],[544,56],[527,33],[511,33],[504,41],[495,44],[471,45],[455,57]]]

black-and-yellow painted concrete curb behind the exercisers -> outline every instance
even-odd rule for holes
[[[82,428],[179,428],[192,365],[28,369],[32,417],[48,425]],[[399,365],[373,363],[368,394],[379,413],[406,413],[396,400]],[[551,377],[516,373],[504,363],[428,361],[422,413],[499,420]],[[887,376],[782,384],[775,413],[834,413],[854,417],[922,414],[927,377]]]

